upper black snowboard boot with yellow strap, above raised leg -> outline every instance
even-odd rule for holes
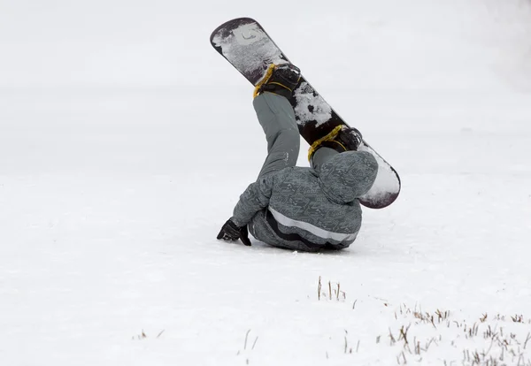
[[[269,65],[266,76],[258,81],[255,87],[254,97],[264,92],[270,92],[289,99],[300,79],[301,71],[296,65]]]

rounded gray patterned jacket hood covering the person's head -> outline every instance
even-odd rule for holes
[[[322,164],[319,185],[327,198],[336,203],[353,202],[373,187],[378,163],[366,151],[345,151]]]

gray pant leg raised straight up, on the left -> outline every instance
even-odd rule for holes
[[[253,106],[267,140],[266,162],[258,178],[295,166],[300,149],[300,135],[295,112],[288,99],[273,93],[263,93],[253,100]]]

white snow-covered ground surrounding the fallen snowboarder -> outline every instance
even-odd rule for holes
[[[529,364],[530,7],[2,4],[0,363]],[[349,249],[215,240],[266,154],[240,16],[401,175]]]

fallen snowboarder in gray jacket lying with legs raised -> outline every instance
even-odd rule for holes
[[[378,164],[358,147],[361,134],[338,127],[310,149],[311,168],[297,167],[300,137],[289,97],[300,79],[290,64],[273,65],[255,89],[253,106],[267,140],[256,182],[240,196],[218,239],[249,233],[274,247],[303,251],[348,248],[361,227],[358,197],[373,186]]]

